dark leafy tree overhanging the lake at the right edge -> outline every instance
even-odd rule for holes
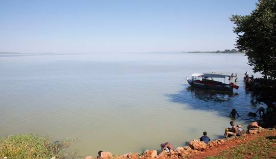
[[[250,15],[232,15],[236,46],[254,72],[276,78],[276,0],[259,0]]]

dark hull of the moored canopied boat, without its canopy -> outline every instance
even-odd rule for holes
[[[187,82],[192,87],[197,87],[197,88],[220,90],[220,91],[233,91],[233,87],[231,87],[230,85],[227,85],[227,84],[225,84],[225,85],[208,85],[208,84],[198,83],[198,82],[195,82],[192,80],[188,80],[188,78],[187,78]]]

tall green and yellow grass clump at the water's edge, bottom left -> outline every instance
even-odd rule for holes
[[[63,158],[62,144],[32,134],[0,139],[0,158]]]

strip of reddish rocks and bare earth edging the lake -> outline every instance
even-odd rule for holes
[[[197,154],[200,154],[204,151],[212,150],[212,149],[217,149],[218,147],[228,144],[228,143],[233,143],[233,142],[243,142],[247,138],[250,138],[251,136],[256,136],[257,134],[264,133],[266,131],[273,130],[276,131],[275,129],[271,128],[262,128],[259,127],[256,130],[248,130],[247,134],[242,135],[241,137],[232,137],[228,139],[217,139],[215,141],[211,141],[209,144],[205,144],[203,141],[198,141],[198,140],[193,140],[191,141],[188,145],[185,147],[177,147],[175,150],[170,150],[170,152],[167,151],[162,151],[159,154],[157,154],[157,150],[146,150],[141,153],[126,153],[123,155],[112,155],[112,153],[106,151],[102,152],[101,156],[97,156],[95,158],[102,158],[102,159],[128,159],[128,158],[133,158],[133,159],[139,159],[139,158],[146,158],[146,159],[153,159],[153,158],[160,158],[160,159],[167,159],[167,158],[186,158],[186,157],[191,157],[195,156]],[[87,156],[85,159],[94,159],[92,156]]]

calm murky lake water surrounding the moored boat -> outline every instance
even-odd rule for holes
[[[238,74],[234,94],[194,89],[192,73]],[[96,156],[186,146],[203,131],[214,140],[260,105],[242,82],[252,73],[244,54],[14,54],[0,55],[0,137],[17,133],[77,139],[69,150]],[[226,80],[228,83],[228,80]]]

